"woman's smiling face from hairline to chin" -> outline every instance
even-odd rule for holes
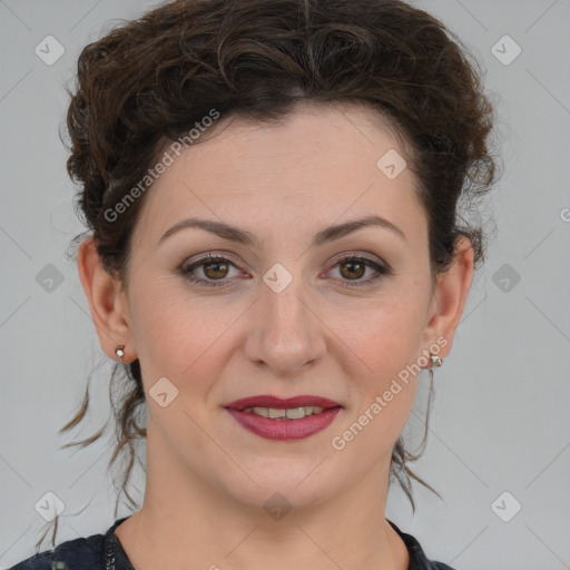
[[[399,174],[403,150],[374,117],[307,106],[170,151],[137,222],[125,296],[149,473],[255,505],[387,485],[417,366],[445,355],[452,330],[438,320],[414,176]],[[372,216],[384,222],[333,229]],[[324,410],[299,419],[311,405]]]

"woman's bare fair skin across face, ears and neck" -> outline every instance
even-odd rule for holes
[[[147,190],[126,291],[105,273],[92,240],[78,253],[101,347],[117,360],[124,344],[124,362],[139,358],[148,405],[145,501],[116,534],[137,570],[333,561],[405,570],[405,546],[384,518],[390,458],[426,373],[402,384],[342,451],[332,440],[438,338],[445,358],[471,285],[471,244],[458,240],[454,264],[433,285],[416,180],[409,168],[394,179],[379,170],[389,149],[404,153],[367,109],[306,105],[282,122],[223,117],[215,128]],[[311,246],[325,226],[371,214],[405,238],[371,226]],[[232,224],[257,243],[187,228],[159,244],[188,217]],[[194,276],[223,286],[191,284],[178,271],[208,253],[234,265],[203,265]],[[351,277],[346,264],[332,263],[344,253],[393,273],[343,287],[375,275],[366,267]],[[276,263],[293,277],[281,293],[263,281]],[[149,396],[161,377],[178,390],[166,407]],[[343,409],[311,438],[269,441],[224,409],[257,394],[320,395]],[[263,508],[276,492],[293,507],[281,520]]]

